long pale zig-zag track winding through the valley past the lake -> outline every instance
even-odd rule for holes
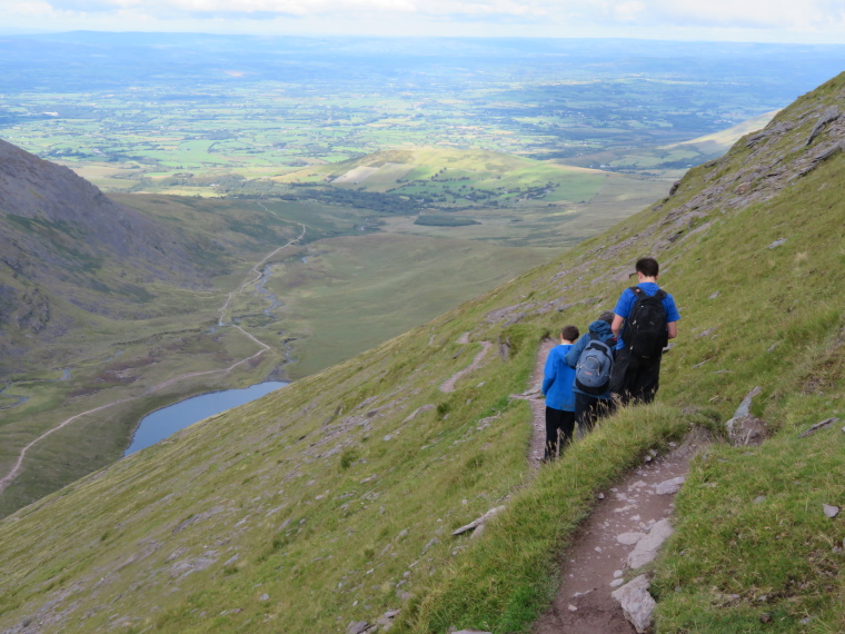
[[[258,202],[258,205],[265,211],[267,211],[268,214],[274,214],[274,216],[278,217],[278,214],[276,214],[275,211],[270,211],[269,209],[267,209],[267,207],[265,207],[260,201]],[[285,218],[279,218],[279,219],[280,220],[285,220],[286,222],[292,222],[295,225],[299,225],[302,228],[302,232],[299,234],[298,237],[296,237],[292,240],[288,241],[287,244],[282,245],[282,246],[280,246],[280,247],[278,247],[276,249],[274,249],[271,252],[269,252],[267,256],[265,256],[261,260],[259,260],[250,269],[250,273],[255,274],[255,277],[251,277],[251,278],[245,280],[243,284],[240,285],[240,287],[238,288],[238,290],[229,293],[229,295],[226,298],[226,301],[218,309],[218,314],[219,314],[218,325],[219,326],[222,326],[225,324],[226,310],[228,310],[229,303],[231,301],[232,297],[235,295],[243,293],[245,288],[247,288],[251,284],[255,284],[256,281],[258,281],[261,278],[261,275],[264,275],[264,274],[262,274],[262,270],[261,270],[260,267],[262,265],[265,265],[267,262],[267,260],[269,260],[270,258],[272,258],[274,256],[276,256],[282,249],[285,249],[285,248],[287,248],[287,247],[289,247],[289,246],[291,246],[291,245],[300,241],[302,238],[305,238],[305,235],[306,235],[306,231],[307,231],[305,225],[302,225],[301,222],[296,222],[294,220],[286,220]],[[2,494],[9,487],[9,485],[12,482],[14,482],[14,479],[20,475],[20,472],[23,469],[23,459],[27,456],[27,452],[29,452],[29,449],[31,449],[38,443],[40,443],[41,440],[43,440],[44,438],[47,438],[53,432],[58,432],[59,429],[62,429],[63,427],[67,427],[68,425],[70,425],[71,423],[73,423],[73,420],[77,420],[77,419],[79,419],[79,418],[81,418],[83,416],[87,416],[89,414],[93,414],[96,412],[101,412],[103,409],[108,409],[109,407],[113,407],[113,406],[120,405],[122,403],[129,403],[129,402],[137,400],[137,399],[142,398],[142,397],[149,396],[150,394],[155,394],[156,392],[159,392],[159,390],[161,390],[161,389],[163,389],[163,388],[166,388],[166,387],[168,387],[168,386],[170,386],[170,385],[172,385],[175,383],[178,383],[180,380],[185,380],[185,379],[193,378],[193,377],[198,377],[198,376],[211,375],[211,374],[228,374],[231,370],[233,370],[236,367],[238,367],[238,366],[240,366],[242,364],[249,363],[250,360],[259,357],[260,355],[265,354],[267,350],[270,349],[270,346],[268,346],[264,341],[260,341],[259,339],[257,339],[251,334],[247,333],[243,328],[241,328],[237,324],[232,324],[232,326],[235,326],[235,328],[237,328],[238,330],[240,330],[241,333],[243,333],[243,335],[246,335],[248,338],[252,339],[252,341],[255,341],[261,349],[258,350],[257,353],[255,353],[254,355],[250,355],[250,356],[248,356],[248,357],[246,357],[246,358],[243,358],[243,359],[241,359],[241,360],[239,360],[239,361],[230,365],[229,367],[213,369],[213,370],[193,372],[193,373],[188,373],[188,374],[182,374],[182,375],[179,375],[179,376],[175,376],[175,377],[169,378],[169,379],[167,379],[167,380],[165,380],[162,383],[159,383],[158,385],[155,385],[155,386],[150,387],[149,389],[145,390],[145,393],[142,395],[140,395],[140,396],[131,396],[131,397],[128,397],[128,398],[120,398],[118,400],[112,400],[111,403],[107,403],[106,405],[100,405],[98,407],[93,407],[93,408],[88,409],[86,412],[81,412],[80,414],[74,414],[70,418],[66,418],[64,420],[62,420],[61,423],[59,423],[58,425],[56,425],[56,427],[52,427],[52,428],[48,429],[47,432],[44,432],[43,434],[41,434],[34,440],[30,442],[27,446],[24,446],[20,450],[20,454],[18,454],[18,459],[14,463],[14,465],[12,466],[11,470],[8,474],[6,474],[6,476],[3,476],[2,479],[0,479],[0,494]]]

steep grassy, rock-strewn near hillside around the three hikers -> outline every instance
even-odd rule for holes
[[[558,260],[3,519],[0,626],[342,632],[399,610],[392,631],[521,631],[595,493],[690,425],[719,435],[760,386],[773,438],[717,443],[679,494],[657,628],[747,632],[765,613],[843,631],[845,519],[821,505],[845,506],[845,434],[796,436],[843,409],[844,95],[839,76]],[[535,477],[509,395],[541,338],[612,308],[644,254],[682,313],[658,403]],[[480,538],[451,536],[501,505]]]

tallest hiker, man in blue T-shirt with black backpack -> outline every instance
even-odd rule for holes
[[[669,339],[677,337],[680,319],[675,299],[657,285],[657,260],[638,259],[636,273],[638,284],[623,291],[614,308],[612,325],[618,343],[610,389],[623,404],[654,400],[659,386],[663,348]],[[649,300],[650,297],[659,299],[659,304]],[[647,309],[643,308],[646,301],[655,306],[654,316],[647,324],[640,319],[639,323],[645,324],[640,326],[632,313],[646,313]],[[648,333],[649,327],[654,333]]]

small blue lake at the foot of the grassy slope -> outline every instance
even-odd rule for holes
[[[195,423],[220,414],[232,407],[238,407],[255,400],[288,385],[278,380],[268,380],[245,389],[226,389],[187,398],[168,407],[157,409],[141,418],[141,423],[132,436],[132,444],[123,453],[123,457],[146,449],[171,434],[193,425]]]

